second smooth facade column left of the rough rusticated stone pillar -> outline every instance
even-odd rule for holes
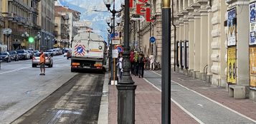
[[[200,74],[200,36],[201,17],[199,13],[200,4],[192,4],[194,8],[194,78],[199,78]]]

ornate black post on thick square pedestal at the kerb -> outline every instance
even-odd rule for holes
[[[131,78],[131,61],[129,48],[129,21],[130,0],[125,0],[124,22],[124,51],[123,51],[123,78],[118,83],[118,124],[135,123],[135,90],[136,86]]]

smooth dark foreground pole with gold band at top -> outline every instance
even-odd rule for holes
[[[171,9],[170,0],[163,0],[162,8],[162,124],[171,123]],[[164,52],[163,52],[164,51]]]

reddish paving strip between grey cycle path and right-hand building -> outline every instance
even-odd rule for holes
[[[228,96],[225,88],[212,86],[209,83],[199,81],[189,76],[184,76],[181,73],[171,73],[171,80],[181,84],[182,86],[186,86],[186,88],[196,91],[207,98],[215,100],[218,103],[241,113],[242,115],[256,120],[256,110],[254,109],[256,107],[256,103],[253,100],[234,99]]]

